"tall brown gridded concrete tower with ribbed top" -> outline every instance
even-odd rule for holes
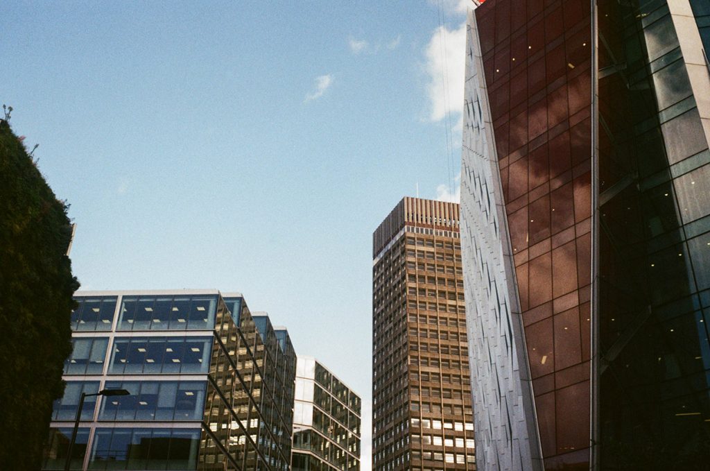
[[[373,470],[475,470],[459,205],[405,197],[373,257]]]

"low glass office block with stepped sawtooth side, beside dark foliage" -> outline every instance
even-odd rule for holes
[[[126,389],[84,402],[70,469],[288,470],[295,353],[241,295],[75,297],[67,386],[43,469],[64,469],[82,392]]]

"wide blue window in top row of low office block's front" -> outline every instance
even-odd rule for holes
[[[217,296],[128,296],[118,330],[212,329],[216,308]]]

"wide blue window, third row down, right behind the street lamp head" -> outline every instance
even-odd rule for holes
[[[107,381],[107,389],[126,389],[130,396],[102,400],[101,421],[200,421],[204,381]]]

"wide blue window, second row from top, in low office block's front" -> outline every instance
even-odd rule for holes
[[[109,373],[206,373],[212,337],[116,338]]]

